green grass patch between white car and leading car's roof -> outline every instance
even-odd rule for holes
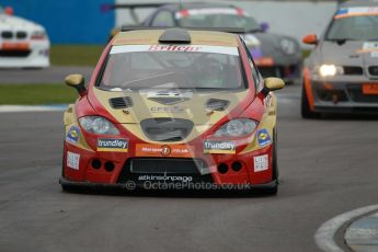
[[[53,45],[53,66],[95,66],[104,45]]]

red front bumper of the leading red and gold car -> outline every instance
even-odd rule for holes
[[[140,157],[129,144],[128,152],[99,152],[65,144],[65,181],[124,185],[146,183],[207,183],[215,185],[260,185],[273,180],[273,145],[247,153],[206,154],[196,151],[193,158]],[[199,148],[198,148],[199,149]],[[68,164],[68,152],[79,156],[78,167]],[[256,160],[265,160],[265,168]]]

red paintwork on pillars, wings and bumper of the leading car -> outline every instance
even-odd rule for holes
[[[198,138],[186,142],[188,146],[194,146],[195,151],[195,158],[203,159],[207,162],[208,167],[210,168],[214,181],[218,184],[222,183],[252,183],[252,184],[263,184],[272,181],[272,145],[267,146],[263,149],[260,149],[257,151],[249,152],[247,154],[240,154],[242,150],[245,149],[247,145],[249,144],[248,139],[245,138],[239,138],[232,140],[236,140],[237,142],[237,153],[236,154],[205,154],[203,152],[203,142],[204,139],[214,138],[214,133],[222,126],[225,123],[230,121],[231,118],[253,118],[257,122],[261,121],[265,110],[265,96],[259,93],[256,95],[256,91],[254,89],[252,72],[249,67],[249,61],[247,58],[247,53],[241,46],[241,42],[238,38],[239,48],[241,51],[241,60],[243,64],[243,67],[245,69],[247,79],[249,82],[249,93],[247,98],[240,102],[239,106],[237,106],[233,111],[229,113],[229,115],[225,116],[222,119],[220,119],[216,125],[214,125],[208,131],[199,136]],[[72,181],[85,181],[85,182],[93,182],[93,183],[116,183],[118,175],[122,171],[122,168],[126,160],[128,158],[135,157],[135,148],[137,144],[147,144],[139,139],[138,137],[130,134],[128,130],[126,130],[124,127],[119,126],[117,124],[116,119],[110,114],[108,111],[101,104],[101,102],[96,99],[96,96],[93,93],[93,88],[95,84],[95,80],[98,78],[98,75],[100,72],[101,66],[103,65],[108,50],[111,48],[110,43],[106,48],[104,49],[104,53],[102,57],[99,60],[99,64],[92,75],[92,78],[89,83],[88,94],[85,96],[80,98],[76,103],[76,113],[78,117],[85,116],[85,115],[101,115],[103,117],[106,117],[111,122],[115,123],[116,127],[118,128],[121,136],[119,138],[127,138],[128,139],[128,152],[96,152],[96,140],[99,137],[106,137],[106,136],[98,136],[94,134],[90,134],[84,131],[81,128],[81,134],[85,138],[88,145],[93,151],[87,151],[80,148],[77,148],[76,146],[65,142],[65,154],[64,160],[66,160],[66,153],[68,151],[72,151],[76,153],[80,153],[80,170],[73,170],[70,168],[67,168],[66,161],[64,163],[65,169],[65,177]],[[107,136],[108,137],[108,136]],[[273,138],[273,136],[271,136]],[[225,139],[225,138],[222,138]],[[231,138],[230,138],[231,139]],[[263,172],[253,172],[253,157],[265,154],[267,153],[270,157],[270,169]],[[99,170],[93,169],[90,164],[91,161],[96,158],[100,159],[103,163],[105,161],[112,161],[115,163],[115,169],[113,172],[106,172],[104,168],[102,167]],[[228,173],[220,174],[217,172],[217,164],[219,163],[227,163],[229,167],[233,161],[239,161],[243,164],[241,171],[234,172],[231,169],[229,169]]]

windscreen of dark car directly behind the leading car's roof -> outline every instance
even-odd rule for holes
[[[259,23],[239,9],[197,9],[176,13],[183,27],[237,27],[247,32],[259,31]]]

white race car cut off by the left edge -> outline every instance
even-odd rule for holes
[[[45,28],[12,12],[0,7],[0,68],[49,67],[50,42]]]

